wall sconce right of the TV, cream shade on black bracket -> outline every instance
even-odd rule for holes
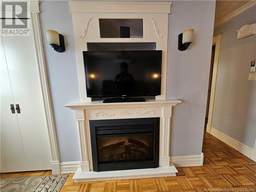
[[[185,51],[188,46],[193,42],[194,29],[187,29],[178,37],[178,50]]]

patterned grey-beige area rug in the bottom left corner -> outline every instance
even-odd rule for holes
[[[59,192],[69,175],[1,179],[1,192]]]

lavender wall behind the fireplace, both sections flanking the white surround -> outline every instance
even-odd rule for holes
[[[199,155],[202,150],[214,1],[174,1],[169,16],[168,98],[178,98],[172,117],[171,154]],[[57,14],[56,14],[57,13]],[[78,161],[75,116],[63,104],[79,100],[72,16],[67,1],[41,1],[41,24],[49,68],[61,161]],[[195,41],[178,51],[178,34],[195,29]],[[65,36],[66,52],[57,53],[47,43],[45,30]]]

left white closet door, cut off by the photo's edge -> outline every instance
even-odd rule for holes
[[[1,76],[1,172],[22,172],[27,169],[20,138],[16,114],[12,114],[10,104],[14,104],[2,39],[0,48]]]

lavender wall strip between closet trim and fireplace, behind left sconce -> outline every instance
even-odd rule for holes
[[[68,102],[79,101],[72,15],[67,1],[41,1],[40,4],[60,161],[78,161],[80,155],[75,113],[63,106]],[[64,36],[64,53],[54,51],[48,44],[47,29],[56,30]]]

